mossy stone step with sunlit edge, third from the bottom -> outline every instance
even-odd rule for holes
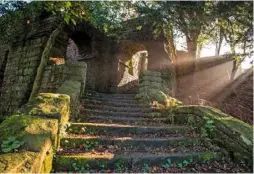
[[[138,126],[124,124],[103,124],[103,123],[72,123],[67,129],[69,133],[86,134],[86,135],[142,135],[142,134],[184,134],[192,132],[188,126]]]

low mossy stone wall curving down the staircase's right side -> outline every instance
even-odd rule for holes
[[[169,107],[165,116],[169,121],[174,117],[174,124],[189,122],[200,130],[207,120],[213,122],[212,143],[226,149],[237,162],[245,162],[252,166],[253,162],[253,126],[244,123],[218,109],[205,106]],[[164,111],[165,111],[164,110]]]

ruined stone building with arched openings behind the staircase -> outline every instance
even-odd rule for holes
[[[59,23],[53,17],[31,21],[20,29],[23,32],[16,40],[0,45],[0,115],[12,113],[27,102],[45,44]],[[51,49],[40,92],[54,92],[70,78],[71,73],[65,71],[76,68],[64,62],[74,61],[87,64],[87,89],[133,93],[139,85],[142,52],[147,52],[148,70],[171,67],[164,48],[165,38],[154,38],[151,26],[149,20],[128,21],[116,38],[106,36],[88,23],[66,25]]]

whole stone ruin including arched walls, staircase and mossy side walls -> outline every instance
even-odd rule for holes
[[[252,165],[252,126],[214,108],[182,105],[167,95],[165,74],[143,72],[144,54],[148,70],[171,65],[164,39],[154,39],[151,27],[134,27],[125,31],[131,35],[116,39],[87,23],[65,25],[47,52],[60,22],[53,17],[32,21],[16,40],[0,47],[0,115],[10,115],[0,124],[0,142],[23,142],[7,153],[1,144],[0,172],[96,173],[113,168],[115,173],[122,166],[132,172],[138,166],[140,172],[154,162],[163,166],[172,160],[172,167],[185,168],[186,162],[193,167],[225,157]],[[43,56],[48,61],[40,93],[29,99]],[[216,65],[197,64],[199,69]],[[95,91],[84,93],[85,86]],[[133,91],[138,95],[108,94]],[[206,130],[207,125],[214,131]],[[78,158],[69,147],[79,149]]]

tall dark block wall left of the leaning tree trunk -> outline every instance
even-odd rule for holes
[[[57,24],[55,18],[31,21],[20,29],[23,34],[9,45],[0,114],[9,115],[27,102],[46,41]]]

